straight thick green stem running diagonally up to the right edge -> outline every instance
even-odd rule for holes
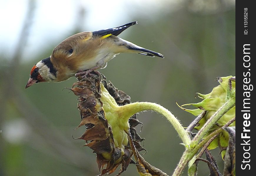
[[[197,133],[197,135],[194,137],[194,139],[191,142],[191,148],[186,149],[183,153],[178,166],[174,170],[174,173],[172,176],[179,176],[182,174],[183,170],[185,169],[187,163],[195,157],[198,150],[207,143],[207,141],[214,136],[215,134],[219,133],[218,130],[213,132],[210,136],[207,136],[203,141],[202,138],[206,135],[206,133],[212,128],[212,126],[232,107],[235,106],[235,98],[230,98],[225,104],[223,104],[220,109],[218,109],[215,114],[211,116],[209,120],[205,123],[205,125],[200,129],[200,131]],[[201,141],[201,142],[200,142]],[[200,142],[200,143],[199,143]],[[198,144],[199,143],[199,144]]]

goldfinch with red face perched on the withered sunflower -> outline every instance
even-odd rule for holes
[[[50,57],[31,69],[26,88],[39,82],[61,82],[80,74],[87,75],[103,69],[119,53],[139,53],[162,57],[161,53],[142,48],[117,37],[125,29],[137,24],[133,21],[115,28],[74,34],[57,45]]]

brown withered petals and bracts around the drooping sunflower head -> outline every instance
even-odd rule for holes
[[[104,79],[102,80],[101,77]],[[112,129],[105,118],[105,112],[102,107],[103,104],[100,99],[100,83],[103,83],[104,87],[108,90],[110,95],[114,97],[119,106],[129,104],[131,98],[123,91],[115,88],[111,82],[107,83],[104,75],[101,75],[101,77],[96,72],[91,72],[90,76],[74,83],[70,89],[78,96],[77,108],[80,111],[82,121],[77,128],[85,126],[87,129],[84,134],[77,139],[86,141],[86,144],[83,146],[88,146],[97,154],[97,164],[100,175],[113,173],[119,165],[121,165],[121,169],[118,175],[121,175],[130,163],[134,163],[132,160],[133,150],[128,143],[127,146],[124,147],[124,153],[122,155],[121,148],[116,148],[114,145]],[[131,132],[134,146],[138,151],[141,151],[145,150],[140,145],[140,143],[144,141],[144,138],[141,138],[137,134],[135,127],[138,124],[142,123],[138,121],[136,114],[134,114],[129,119],[129,131]],[[90,142],[87,143],[87,141]]]

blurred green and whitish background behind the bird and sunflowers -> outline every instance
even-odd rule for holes
[[[73,77],[24,89],[31,67],[49,57],[70,35],[138,24],[121,38],[162,53],[164,59],[122,53],[99,70],[135,101],[150,101],[172,111],[184,126],[195,118],[180,105],[199,102],[219,76],[235,76],[235,0],[3,1],[0,28],[0,175],[98,175],[96,155],[75,129],[81,119]],[[140,113],[146,138],[143,155],[172,175],[184,151],[172,125],[159,114]],[[137,127],[140,131],[141,126]],[[212,151],[220,170],[220,150]],[[115,172],[116,174],[118,173]],[[112,175],[115,175],[112,174]],[[129,165],[122,176],[138,175]],[[187,175],[185,171],[183,175]],[[199,163],[199,176],[209,175]]]

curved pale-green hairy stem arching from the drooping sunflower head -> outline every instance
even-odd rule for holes
[[[126,104],[124,106],[120,106],[120,113],[122,111],[126,112],[126,116],[129,119],[133,114],[136,114],[137,112],[140,111],[145,111],[145,110],[153,110],[156,111],[163,116],[167,118],[167,120],[173,125],[174,129],[177,131],[179,134],[179,137],[181,138],[182,142],[185,145],[189,145],[191,140],[189,137],[189,134],[187,131],[184,130],[182,125],[179,123],[179,120],[168,110],[165,109],[163,106],[156,104],[156,103],[150,103],[150,102],[135,102],[131,104]],[[128,120],[127,119],[127,120]]]

